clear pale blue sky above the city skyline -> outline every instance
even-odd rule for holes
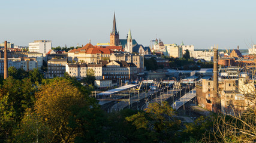
[[[246,49],[256,43],[255,5],[254,0],[1,1],[0,42],[106,43],[115,11],[120,39],[131,29],[132,39],[144,46],[161,38],[164,44],[183,41],[195,49]]]

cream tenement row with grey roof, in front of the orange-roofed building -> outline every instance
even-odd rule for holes
[[[97,80],[102,79],[102,75],[103,75],[102,64],[86,64],[86,63],[66,64],[66,72],[70,74],[70,76],[76,77],[78,79],[82,79],[83,77],[86,77],[89,69],[92,69],[94,71],[95,78]]]

